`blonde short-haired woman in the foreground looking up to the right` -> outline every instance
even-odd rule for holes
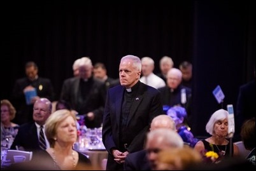
[[[76,116],[67,109],[50,115],[45,123],[45,135],[50,148],[33,154],[31,162],[39,163],[42,158],[53,170],[87,170],[91,168],[89,158],[73,149],[77,140]]]

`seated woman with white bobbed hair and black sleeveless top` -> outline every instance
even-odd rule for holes
[[[206,151],[217,153],[216,160],[220,161],[222,157],[238,156],[239,149],[234,143],[230,144],[228,138],[228,112],[224,109],[219,109],[211,115],[210,120],[206,124],[206,132],[210,133],[211,137],[199,140],[194,149],[199,153],[204,154]],[[231,148],[231,150],[230,150]],[[230,153],[231,152],[231,153]]]

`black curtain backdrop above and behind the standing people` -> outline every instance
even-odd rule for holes
[[[152,57],[155,73],[168,55],[193,64],[193,125],[206,135],[210,115],[236,107],[239,86],[255,79],[255,1],[10,1],[1,5],[1,99],[9,99],[25,62],[39,66],[59,98],[73,62],[88,56],[118,78],[124,55]],[[218,104],[212,91],[225,94]]]

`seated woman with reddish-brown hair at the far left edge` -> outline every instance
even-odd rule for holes
[[[13,140],[18,133],[19,125],[11,122],[15,118],[16,110],[9,100],[1,100],[1,140]]]

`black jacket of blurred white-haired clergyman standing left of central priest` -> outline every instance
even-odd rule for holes
[[[66,100],[71,107],[75,109],[79,114],[87,114],[89,112],[94,113],[94,120],[89,121],[85,118],[85,124],[89,128],[101,127],[103,122],[104,102],[106,99],[106,88],[104,83],[96,79],[90,78],[89,81],[90,91],[86,99],[83,101],[83,105],[78,105],[79,99],[79,86],[80,78],[68,78],[62,85],[62,91],[60,93],[60,99]]]

